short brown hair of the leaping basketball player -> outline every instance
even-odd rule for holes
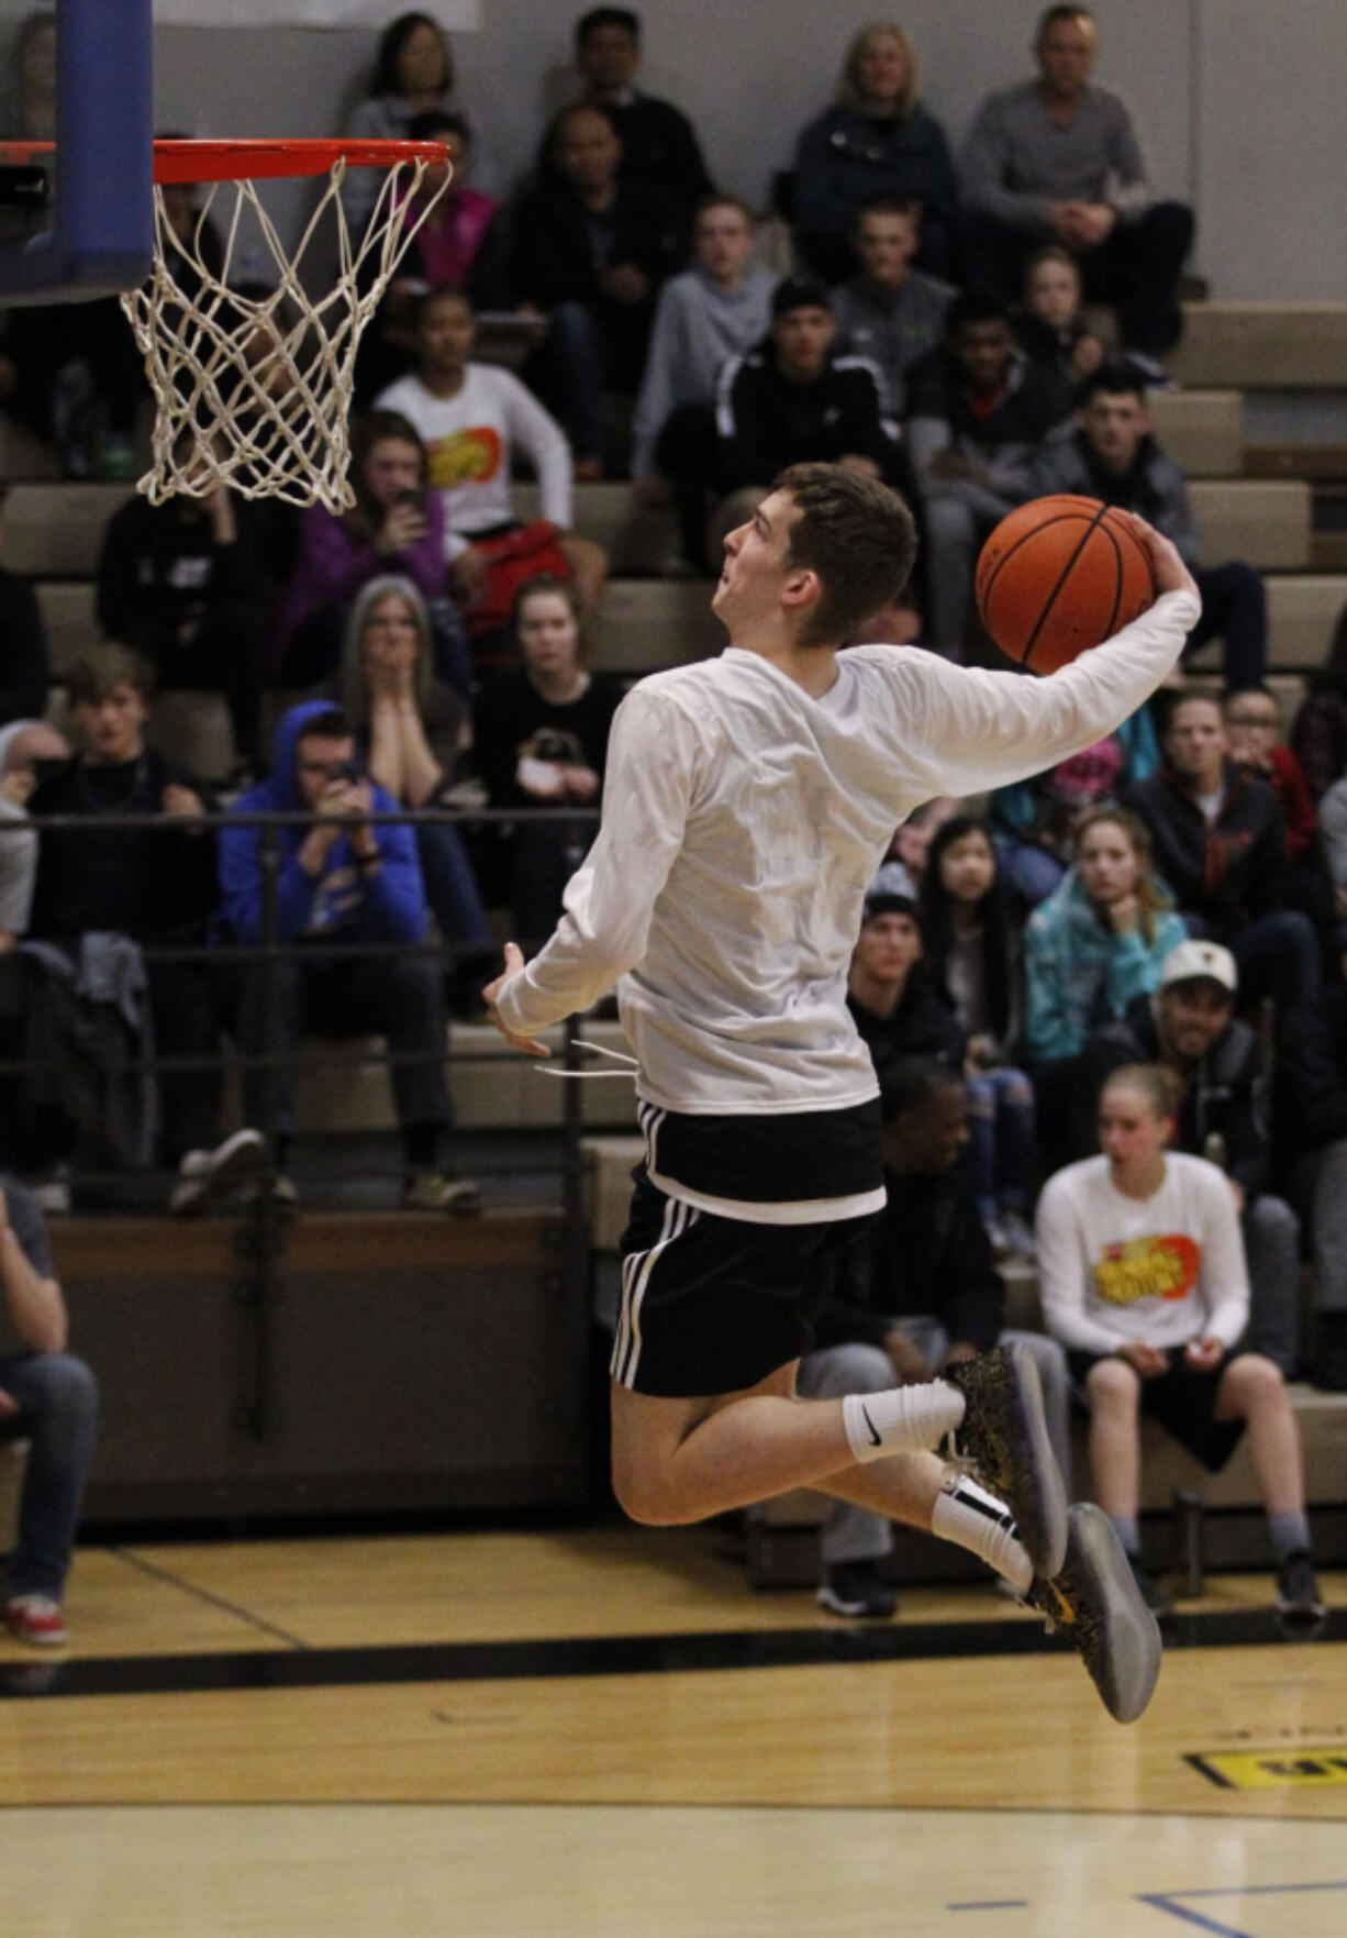
[[[771,488],[795,504],[791,564],[822,583],[802,643],[839,645],[907,585],[917,556],[913,514],[888,484],[841,465],[791,465]]]

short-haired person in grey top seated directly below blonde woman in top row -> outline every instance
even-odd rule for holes
[[[884,372],[884,401],[893,417],[907,411],[907,372],[944,341],[954,289],[913,269],[921,209],[893,196],[868,196],[851,221],[859,273],[833,291],[837,347],[868,357]]]

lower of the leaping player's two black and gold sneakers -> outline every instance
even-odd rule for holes
[[[1103,1508],[1081,1502],[1066,1519],[1066,1560],[1050,1581],[1035,1576],[1029,1607],[1078,1651],[1114,1723],[1136,1723],[1159,1676],[1159,1624]]]

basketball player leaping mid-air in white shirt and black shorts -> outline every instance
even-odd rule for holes
[[[923,800],[1093,746],[1171,671],[1200,601],[1136,527],[1155,605],[1047,678],[841,651],[907,581],[913,519],[837,465],[783,471],[725,539],[731,645],[622,702],[566,913],[527,967],[508,944],[485,990],[506,1041],[545,1056],[539,1031],[618,983],[645,1136],[611,1368],[626,1512],[698,1521],[814,1486],[926,1527],[1076,1643],[1118,1721],[1149,1700],[1159,1632],[1107,1516],[1068,1516],[1023,1349],[845,1399],[797,1399],[795,1368],[812,1300],[884,1203],[878,1085],[845,1004],[866,888]],[[932,1452],[946,1436],[957,1459]]]

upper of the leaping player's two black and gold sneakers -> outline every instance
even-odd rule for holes
[[[1035,1576],[1050,1581],[1066,1556],[1066,1488],[1033,1355],[1019,1343],[998,1345],[954,1360],[942,1378],[963,1393],[963,1424],[954,1436],[959,1455],[1006,1502]]]

